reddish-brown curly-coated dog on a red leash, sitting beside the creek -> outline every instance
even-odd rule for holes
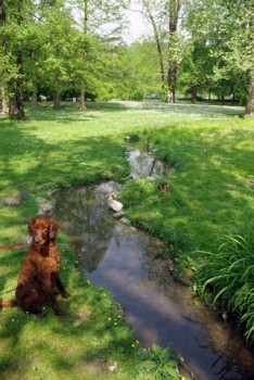
[[[28,229],[33,241],[21,267],[16,299],[0,301],[0,307],[18,305],[25,312],[43,316],[42,306],[48,303],[56,315],[62,315],[53,288],[56,286],[64,299],[69,294],[59,277],[60,252],[55,243],[59,225],[53,218],[40,215],[30,220]]]

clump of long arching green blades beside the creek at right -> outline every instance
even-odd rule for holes
[[[239,235],[223,237],[216,253],[207,253],[203,291],[212,287],[214,302],[237,313],[247,341],[254,341],[254,223]]]

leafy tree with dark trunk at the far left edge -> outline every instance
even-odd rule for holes
[[[9,98],[10,117],[24,119],[24,67],[38,43],[34,39],[36,7],[31,0],[5,0],[1,9],[2,91]]]

